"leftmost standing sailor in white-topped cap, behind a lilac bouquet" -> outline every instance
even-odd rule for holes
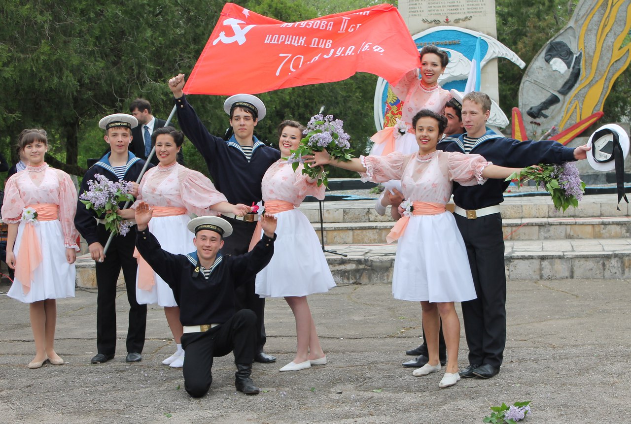
[[[108,152],[91,166],[81,181],[79,196],[88,190],[88,181],[100,174],[111,181],[132,181],[132,195],[138,195],[138,180],[144,161],[136,158],[127,150],[131,142],[131,129],[138,125],[138,120],[126,113],[114,113],[100,120],[98,126],[105,130],[105,142],[110,146]],[[123,207],[123,203],[119,205]],[[126,219],[133,219],[133,210],[121,210]],[[97,272],[97,355],[92,364],[102,364],[114,358],[116,350],[116,282],[122,272],[125,278],[127,301],[129,302],[129,327],[127,329],[127,362],[139,362],[144,347],[147,306],[136,302],[136,268],[133,257],[133,236],[116,235],[112,239],[107,255],[103,246],[110,236],[103,225],[102,217],[97,217],[93,210],[86,209],[77,202],[74,226],[88,242],[90,256],[96,263]],[[132,229],[133,231],[133,229]]]

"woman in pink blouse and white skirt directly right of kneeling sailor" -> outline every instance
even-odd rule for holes
[[[294,172],[292,164],[282,159],[298,148],[304,129],[295,121],[281,122],[278,127],[281,159],[268,168],[262,180],[265,213],[273,214],[278,219],[278,226],[274,256],[268,266],[256,275],[255,291],[261,297],[285,297],[296,320],[298,339],[295,357],[281,371],[298,371],[311,365],[326,364],[307,295],[324,293],[335,287],[313,226],[297,209],[308,195],[324,199],[326,188],[324,185],[317,186],[315,180],[304,175],[302,165]],[[260,238],[261,233],[255,231],[252,242]]]

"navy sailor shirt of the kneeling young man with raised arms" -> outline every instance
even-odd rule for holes
[[[182,325],[193,326],[222,324],[237,312],[236,287],[268,265],[275,239],[276,234],[273,238],[263,234],[252,251],[244,255],[218,253],[208,280],[196,251],[188,255],[168,253],[148,229],[136,231],[136,248],[173,290]]]

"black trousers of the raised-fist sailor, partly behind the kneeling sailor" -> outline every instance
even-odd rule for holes
[[[223,218],[232,225],[232,236],[224,239],[221,253],[228,255],[243,255],[247,253],[250,241],[252,241],[252,234],[254,234],[254,228],[256,228],[256,222]],[[245,282],[237,287],[235,294],[237,295],[237,308],[250,309],[256,314],[256,352],[258,353],[263,352],[267,337],[264,323],[265,299],[254,292],[255,281],[256,275],[251,275],[250,278],[247,278]]]

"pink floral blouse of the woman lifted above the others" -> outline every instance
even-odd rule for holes
[[[426,88],[416,76],[416,71],[410,71],[392,86],[392,92],[403,101],[401,120],[412,125],[412,118],[421,109],[442,114],[445,103],[451,99],[449,91],[440,88],[438,84]]]

